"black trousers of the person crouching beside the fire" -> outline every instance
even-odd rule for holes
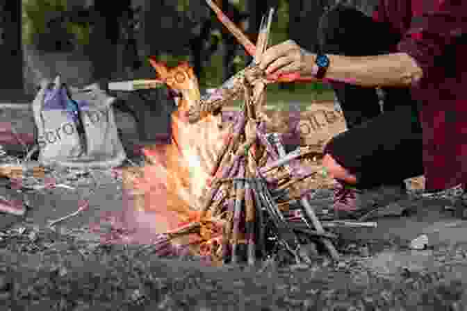
[[[399,40],[386,24],[344,5],[326,12],[318,28],[318,48],[334,55],[389,53]],[[422,128],[408,88],[384,87],[383,112],[375,88],[343,83],[333,88],[348,131],[334,137],[325,153],[357,176],[358,187],[402,186],[404,179],[423,175]]]

